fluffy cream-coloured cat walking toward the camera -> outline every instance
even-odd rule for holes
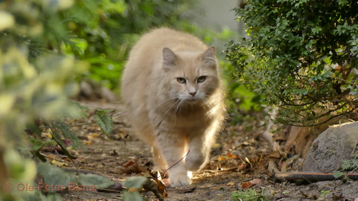
[[[209,159],[224,104],[215,47],[168,28],[145,34],[131,50],[122,97],[136,135],[151,146],[154,164],[169,169],[171,186],[191,184]]]

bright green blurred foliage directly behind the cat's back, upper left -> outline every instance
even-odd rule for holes
[[[84,76],[117,90],[127,54],[140,34],[176,26],[193,6],[195,2],[185,0],[75,1],[62,14],[70,39],[61,50],[90,64]]]

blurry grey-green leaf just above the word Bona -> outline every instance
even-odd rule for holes
[[[114,182],[112,180],[110,180],[109,178],[106,178],[104,176],[99,176],[99,175],[95,175],[95,174],[83,174],[80,173],[78,176],[78,183],[82,184],[82,185],[94,185],[99,189],[103,189],[103,188],[107,188],[109,186],[111,186],[112,184],[114,184]]]

